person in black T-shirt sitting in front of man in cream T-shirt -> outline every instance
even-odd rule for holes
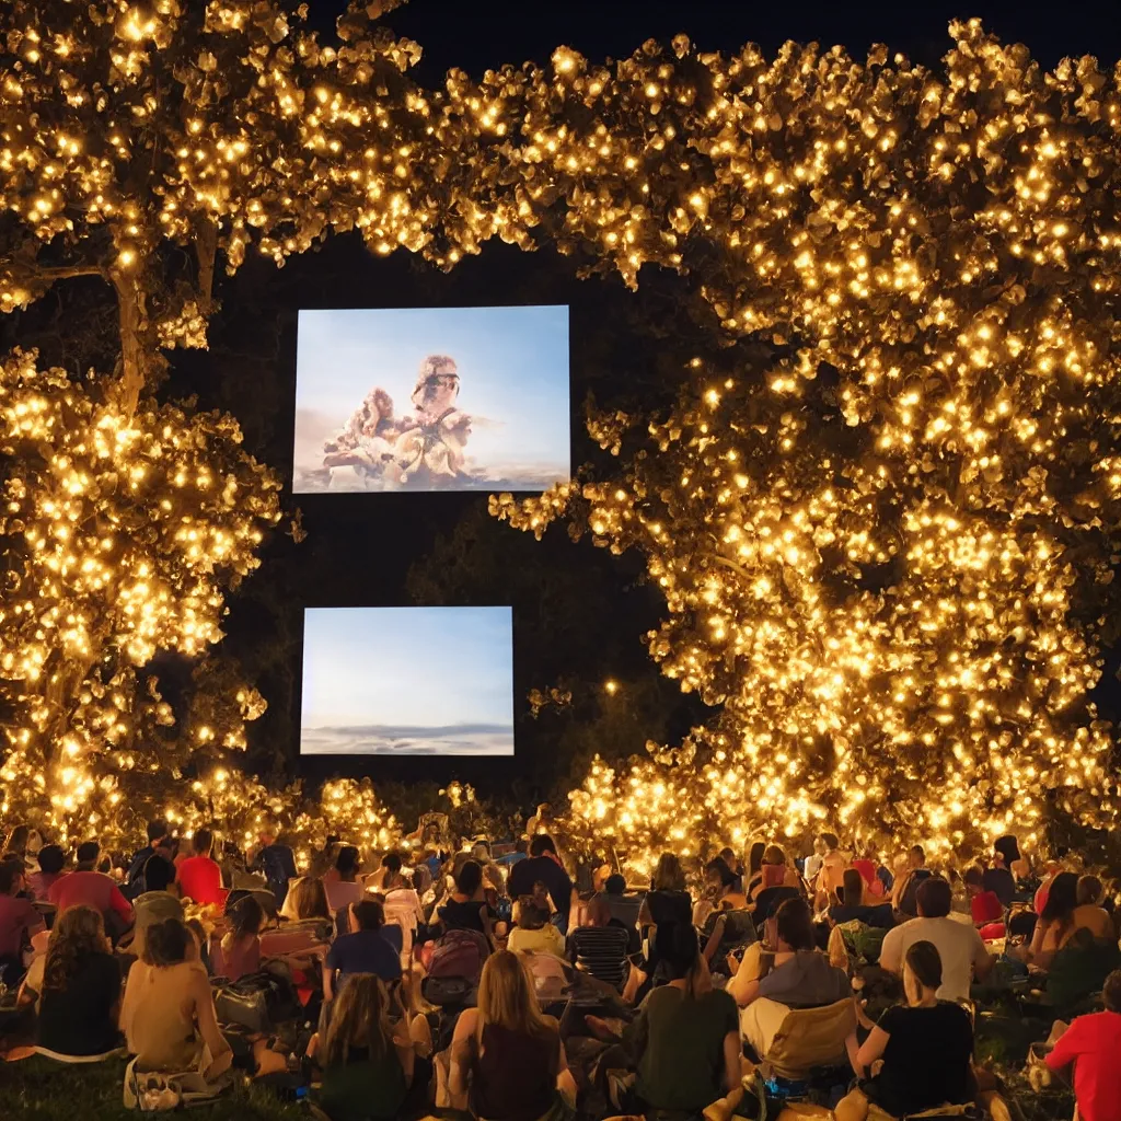
[[[937,946],[912,943],[904,961],[907,1003],[889,1008],[863,1044],[855,1031],[849,1036],[860,1086],[837,1103],[836,1121],[863,1121],[869,1103],[901,1118],[974,1100],[973,1023],[961,1004],[938,1000],[941,988]],[[883,1066],[870,1077],[879,1059]]]

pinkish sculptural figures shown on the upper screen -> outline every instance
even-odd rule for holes
[[[393,416],[383,389],[371,390],[334,439],[324,444],[323,465],[332,487],[352,489],[429,489],[469,479],[466,464],[471,417],[455,407],[460,373],[455,360],[429,354],[413,390],[415,411]],[[356,480],[355,480],[356,476]]]

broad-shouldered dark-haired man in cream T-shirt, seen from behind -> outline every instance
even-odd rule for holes
[[[983,981],[993,960],[975,927],[949,918],[953,891],[941,877],[929,877],[916,891],[918,918],[897,926],[883,936],[880,966],[902,973],[907,951],[916,942],[933,942],[942,958],[939,1000],[967,1000],[971,978]]]

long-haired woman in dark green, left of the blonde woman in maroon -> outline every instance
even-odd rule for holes
[[[418,1064],[405,1020],[395,1011],[382,980],[354,973],[335,1000],[316,1059],[323,1068],[317,1102],[331,1121],[391,1121],[408,1113],[415,1080],[427,1093],[427,1064]],[[423,1104],[423,1102],[418,1103]]]

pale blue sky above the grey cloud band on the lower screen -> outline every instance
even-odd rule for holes
[[[305,729],[513,723],[510,608],[308,608]]]

